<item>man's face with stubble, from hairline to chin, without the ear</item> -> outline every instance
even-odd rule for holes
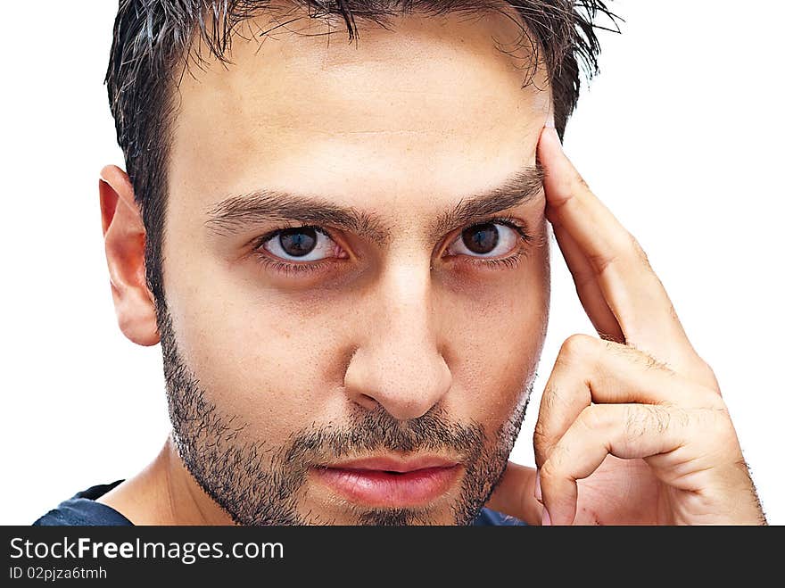
[[[500,15],[359,23],[358,46],[305,21],[236,37],[232,64],[179,87],[161,326],[178,451],[239,523],[467,523],[547,322],[544,73],[522,89]]]

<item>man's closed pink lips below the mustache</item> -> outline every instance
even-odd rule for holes
[[[459,475],[457,460],[368,458],[315,468],[316,481],[351,502],[372,507],[413,507],[436,500]]]

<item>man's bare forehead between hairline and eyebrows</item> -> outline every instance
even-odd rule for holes
[[[426,203],[533,164],[550,96],[544,68],[524,84],[532,64],[525,47],[510,51],[516,22],[452,13],[391,25],[358,22],[349,44],[345,29],[326,34],[307,17],[261,37],[277,22],[244,23],[227,67],[192,65],[179,86],[170,193],[202,208],[260,187]]]

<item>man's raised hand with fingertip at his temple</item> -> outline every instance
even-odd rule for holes
[[[638,242],[545,128],[546,216],[600,337],[562,345],[534,430],[488,506],[543,525],[765,524],[714,372]],[[579,482],[580,481],[580,482]]]

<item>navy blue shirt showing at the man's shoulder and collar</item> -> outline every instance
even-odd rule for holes
[[[33,523],[34,526],[116,526],[133,525],[128,518],[120,512],[95,500],[108,493],[122,480],[112,484],[100,484],[76,493],[67,501],[62,501],[56,509],[47,512],[43,517]],[[517,518],[502,515],[491,509],[482,509],[475,526],[521,526],[525,523]]]

